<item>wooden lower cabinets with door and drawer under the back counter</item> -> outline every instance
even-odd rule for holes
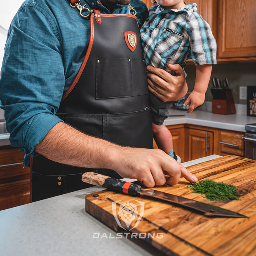
[[[174,151],[181,157],[182,163],[212,154],[244,156],[244,132],[192,124],[167,128],[173,135]]]

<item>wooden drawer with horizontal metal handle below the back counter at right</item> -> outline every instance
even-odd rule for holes
[[[243,133],[241,132],[220,132],[221,153],[244,156]]]

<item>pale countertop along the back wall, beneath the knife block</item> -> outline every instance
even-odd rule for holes
[[[187,111],[172,108],[169,110],[169,117],[164,122],[165,125],[195,124],[238,132],[245,132],[245,124],[252,123],[256,123],[256,118],[247,115],[221,115],[202,110],[187,114]]]

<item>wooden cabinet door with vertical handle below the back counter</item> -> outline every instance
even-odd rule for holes
[[[188,129],[188,160],[213,154],[213,132]]]

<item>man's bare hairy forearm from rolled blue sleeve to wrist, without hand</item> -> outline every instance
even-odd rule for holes
[[[66,165],[111,169],[111,156],[118,148],[121,147],[59,122],[41,143],[37,144],[35,151],[52,161]]]

